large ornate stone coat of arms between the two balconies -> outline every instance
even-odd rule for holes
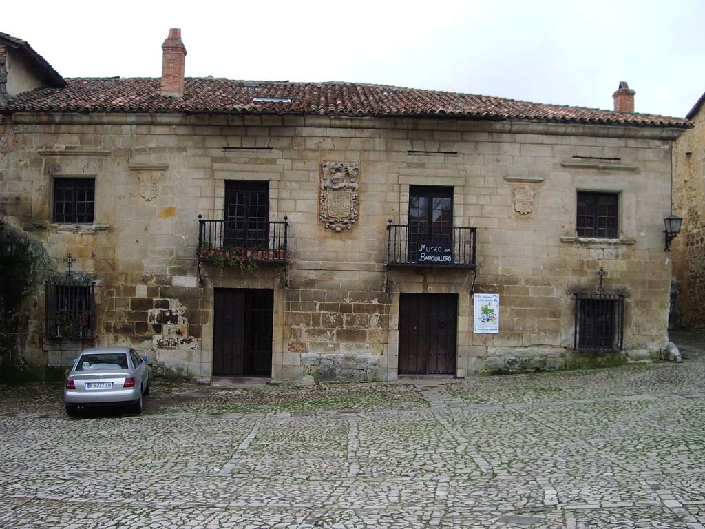
[[[321,162],[321,222],[326,229],[353,228],[360,209],[360,168],[355,162]]]

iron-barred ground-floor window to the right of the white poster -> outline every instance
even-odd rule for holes
[[[576,349],[622,351],[624,296],[575,294]]]

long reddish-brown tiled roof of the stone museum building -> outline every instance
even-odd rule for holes
[[[172,99],[159,94],[159,78],[74,78],[66,82],[67,86],[63,89],[45,88],[21,94],[11,99],[2,111],[414,116],[676,128],[691,126],[682,118],[360,83],[187,78],[183,97]]]

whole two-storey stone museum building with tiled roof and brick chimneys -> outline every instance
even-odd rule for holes
[[[131,343],[173,375],[393,380],[666,346],[687,121],[184,78],[180,30],[163,52],[161,78],[64,80],[35,54],[42,85],[17,90],[7,70],[0,213],[47,263],[23,365]]]

